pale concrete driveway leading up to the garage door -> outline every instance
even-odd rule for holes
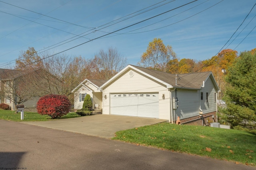
[[[86,135],[112,138],[117,131],[153,125],[165,121],[168,120],[119,115],[92,115],[52,121],[24,121],[22,123]]]

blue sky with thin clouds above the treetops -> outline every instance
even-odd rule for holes
[[[256,3],[255,0],[0,1],[0,68],[13,65],[28,47],[34,47],[38,53],[46,50],[59,53],[74,47],[64,53],[86,59],[94,57],[100,49],[114,47],[127,58],[128,64],[136,65],[154,38],[171,45],[180,59],[210,59]],[[192,3],[182,6],[189,2]],[[240,53],[256,48],[255,16],[256,6],[224,49],[236,48]]]

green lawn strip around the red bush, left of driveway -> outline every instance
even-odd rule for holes
[[[80,117],[80,115],[72,112],[68,113],[67,115],[62,116],[60,119],[68,119]],[[20,112],[16,113],[15,111],[11,110],[2,110],[0,109],[0,119],[1,120],[9,120],[9,121],[50,121],[53,120],[48,115],[40,115],[38,113],[32,112],[24,112],[24,119],[20,120]]]

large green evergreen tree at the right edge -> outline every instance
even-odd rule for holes
[[[242,52],[228,68],[222,119],[233,128],[256,129],[256,53]]]

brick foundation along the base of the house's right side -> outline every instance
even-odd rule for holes
[[[217,122],[216,111],[202,114],[202,117],[198,114],[198,116],[180,119],[180,124],[182,125],[210,126],[210,123],[213,122]]]

